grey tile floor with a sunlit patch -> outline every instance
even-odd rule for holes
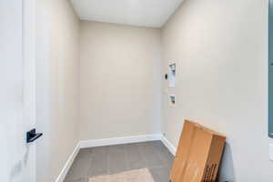
[[[173,159],[161,141],[85,148],[65,182],[168,182]]]

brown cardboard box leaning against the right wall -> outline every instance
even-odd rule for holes
[[[186,120],[170,174],[171,182],[215,182],[225,142],[225,136]]]

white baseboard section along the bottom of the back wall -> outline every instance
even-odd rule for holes
[[[91,139],[83,140],[79,142],[81,148],[86,147],[102,147],[102,146],[113,146],[119,144],[131,144],[137,142],[147,142],[161,140],[161,135],[145,135],[145,136],[125,136],[125,137],[114,137],[106,139]]]

